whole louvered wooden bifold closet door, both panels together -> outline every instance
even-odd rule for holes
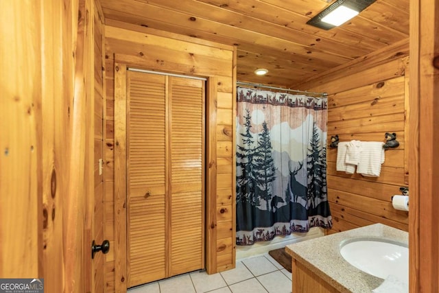
[[[204,268],[204,81],[127,74],[130,288]]]

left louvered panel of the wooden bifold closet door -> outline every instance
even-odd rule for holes
[[[128,71],[128,287],[167,277],[164,75]]]

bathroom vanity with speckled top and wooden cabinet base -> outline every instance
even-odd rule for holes
[[[287,245],[285,250],[292,256],[292,292],[372,292],[383,283],[384,279],[356,268],[340,253],[344,245],[365,240],[396,244],[406,248],[408,233],[383,224],[373,224]],[[373,250],[373,244],[365,246],[365,250],[359,255],[366,255],[368,249]],[[408,280],[408,257],[407,273],[403,279],[405,277]]]

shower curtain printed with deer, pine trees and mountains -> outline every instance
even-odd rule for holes
[[[237,245],[331,228],[327,98],[237,88]]]

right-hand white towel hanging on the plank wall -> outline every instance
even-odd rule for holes
[[[381,164],[384,163],[384,143],[379,141],[361,141],[361,152],[357,165],[357,173],[378,177]]]

